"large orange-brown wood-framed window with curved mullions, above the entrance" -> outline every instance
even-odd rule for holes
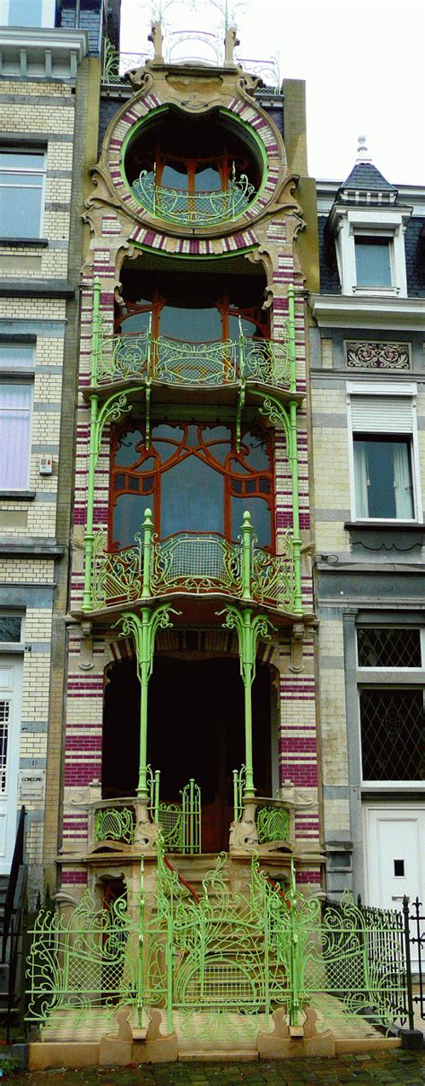
[[[237,539],[245,509],[260,546],[272,547],[273,450],[267,431],[208,422],[153,426],[146,447],[137,422],[112,441],[110,545],[129,546],[151,508],[161,539],[176,532],[217,532]]]

